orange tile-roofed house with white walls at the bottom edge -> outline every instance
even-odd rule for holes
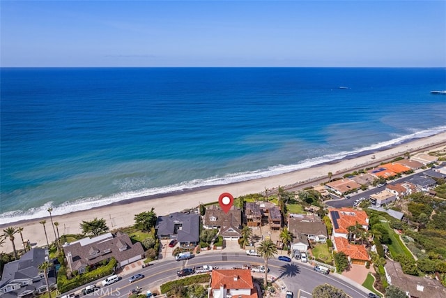
[[[215,269],[210,275],[209,298],[257,298],[249,269]]]

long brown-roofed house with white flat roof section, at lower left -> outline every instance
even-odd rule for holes
[[[102,261],[115,258],[118,267],[123,267],[144,258],[144,248],[140,242],[132,244],[128,234],[117,232],[86,237],[63,245],[63,252],[70,271],[84,273],[87,268],[95,268]]]

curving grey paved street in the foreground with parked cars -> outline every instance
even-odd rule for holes
[[[165,261],[159,262],[156,265],[146,267],[144,269],[134,272],[134,274],[144,274],[144,278],[140,281],[129,283],[126,276],[121,281],[109,285],[107,287],[100,288],[96,292],[95,297],[128,297],[130,290],[137,286],[146,292],[153,285],[165,283],[177,278],[176,271],[185,267],[194,267],[200,265],[212,265],[220,268],[233,268],[241,267],[245,264],[263,264],[263,259],[259,257],[247,256],[244,253],[208,253],[197,255],[195,258],[187,261]],[[320,274],[313,270],[309,265],[304,265],[299,261],[293,260],[293,262],[282,262],[275,259],[269,260],[270,272],[268,276],[274,276],[277,278],[278,283],[284,284],[287,290],[291,290],[295,293],[295,297],[298,297],[300,292],[302,297],[311,297],[312,290],[317,285],[323,283],[330,283],[336,288],[344,290],[351,297],[367,297],[367,292],[355,288],[353,285],[338,278],[335,275]],[[263,274],[256,274],[261,278]]]

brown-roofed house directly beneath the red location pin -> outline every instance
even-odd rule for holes
[[[220,229],[224,240],[238,240],[242,237],[242,211],[232,206],[225,213],[220,207],[210,206],[203,216],[203,228]]]

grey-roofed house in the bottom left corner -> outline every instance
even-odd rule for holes
[[[46,292],[45,274],[38,269],[43,262],[50,262],[48,251],[43,248],[33,248],[22,255],[20,260],[6,263],[1,275],[0,297],[33,297]],[[48,282],[49,288],[54,288],[56,285],[53,266],[48,271]]]

